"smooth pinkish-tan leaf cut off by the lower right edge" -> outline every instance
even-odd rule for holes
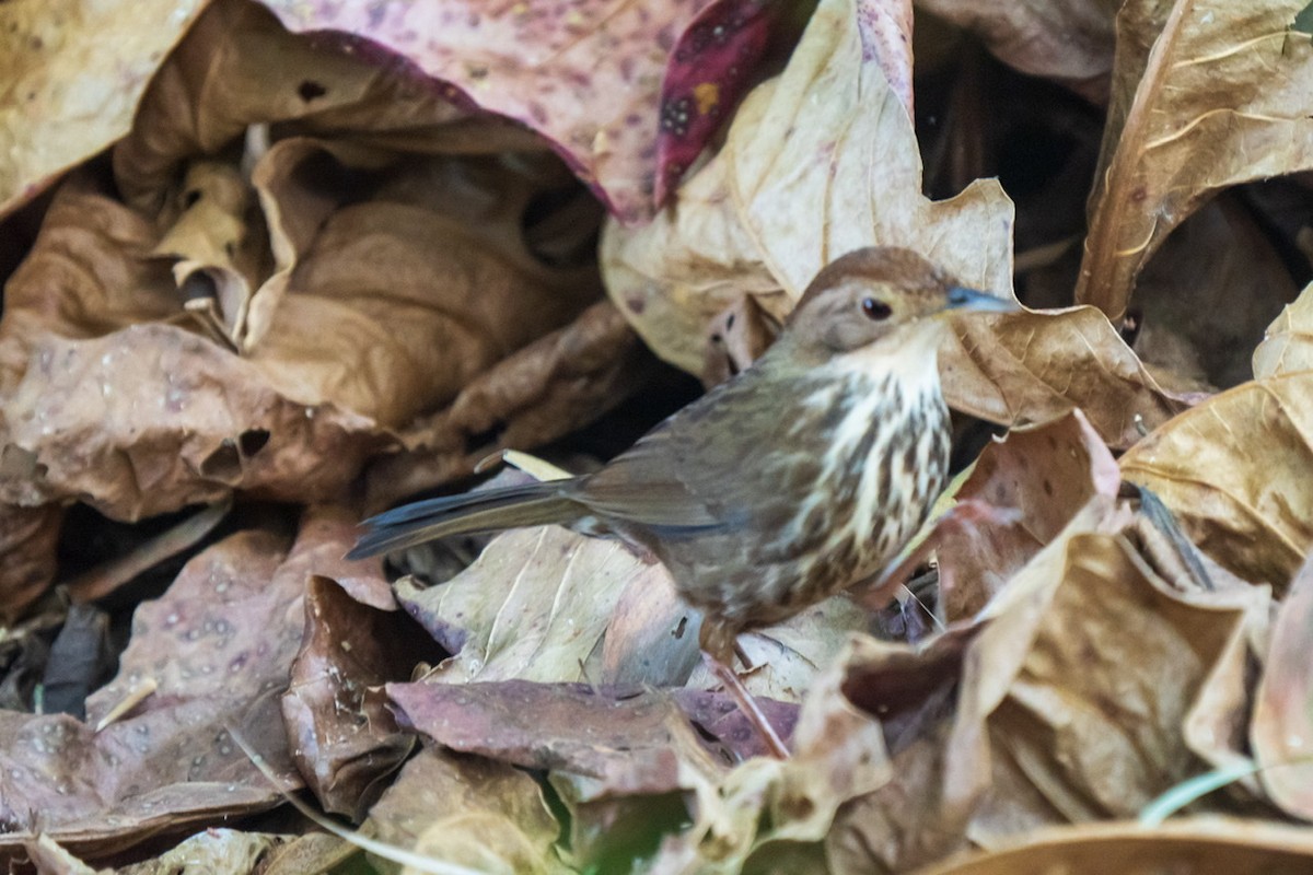
[[[1276,614],[1267,666],[1258,685],[1250,739],[1267,795],[1285,813],[1313,820],[1313,565],[1305,563]]]

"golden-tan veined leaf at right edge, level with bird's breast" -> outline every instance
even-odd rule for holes
[[[1309,371],[1242,383],[1132,447],[1121,475],[1224,567],[1283,588],[1313,546],[1310,397]]]

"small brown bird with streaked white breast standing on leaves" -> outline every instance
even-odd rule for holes
[[[403,505],[366,519],[348,556],[549,523],[618,535],[655,555],[701,610],[709,666],[786,757],[729,668],[738,634],[869,580],[898,555],[948,475],[945,315],[1015,310],[911,249],[850,252],[815,274],[751,366],[596,472]]]

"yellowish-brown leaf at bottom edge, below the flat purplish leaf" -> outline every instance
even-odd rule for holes
[[[504,762],[427,748],[370,812],[377,838],[478,872],[566,872],[542,788]]]

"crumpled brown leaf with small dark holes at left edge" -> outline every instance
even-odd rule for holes
[[[5,501],[81,499],[135,519],[234,488],[326,499],[391,445],[372,420],[291,400],[256,365],[158,321],[180,306],[167,265],[143,252],[150,237],[135,213],[74,180],[8,283]]]

